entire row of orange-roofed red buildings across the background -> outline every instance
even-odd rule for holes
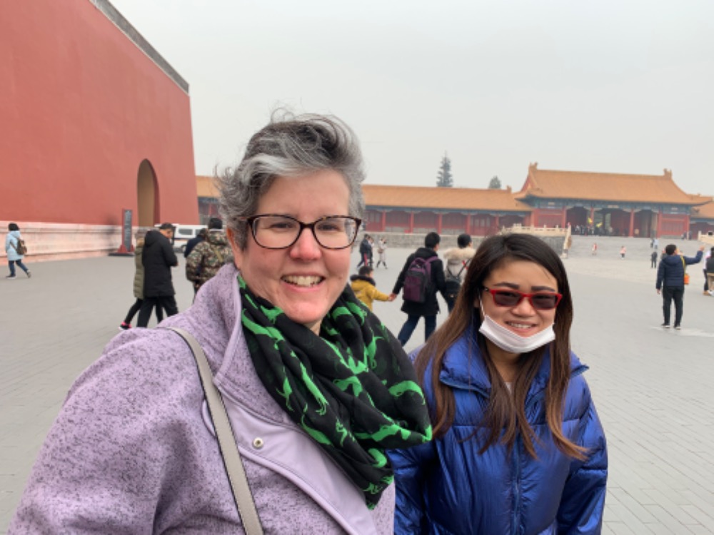
[[[211,177],[199,176],[201,220],[217,213]],[[621,236],[680,236],[714,230],[711,197],[690,195],[672,173],[625,175],[528,168],[521,191],[363,184],[373,233],[486,236],[513,225],[587,227]],[[201,193],[202,192],[202,193]],[[203,196],[201,196],[203,195]]]

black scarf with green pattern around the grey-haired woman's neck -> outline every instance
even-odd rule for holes
[[[431,440],[423,392],[401,345],[349,287],[320,336],[253,295],[240,275],[238,287],[258,377],[373,509],[393,480],[385,450]]]

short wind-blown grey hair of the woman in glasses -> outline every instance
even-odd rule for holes
[[[351,128],[334,116],[273,113],[268,126],[248,142],[238,167],[228,168],[217,177],[219,210],[226,226],[233,230],[236,245],[246,247],[248,228],[241,218],[256,213],[258,201],[273,180],[326,169],[343,176],[350,192],[348,215],[362,218],[361,183],[365,173],[359,143]]]

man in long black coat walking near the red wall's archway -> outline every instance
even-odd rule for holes
[[[171,281],[171,267],[178,265],[171,238],[174,236],[174,225],[162,223],[159,230],[149,230],[144,238],[144,252],[141,263],[144,264],[144,302],[139,310],[137,327],[149,325],[151,310],[161,306],[166,315],[178,314],[176,306],[176,291]]]

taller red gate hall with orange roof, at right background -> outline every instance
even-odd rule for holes
[[[515,197],[533,207],[534,226],[570,224],[604,228],[620,236],[679,236],[690,230],[693,210],[711,197],[680,190],[672,171],[662,175],[583,173],[528,166]]]

